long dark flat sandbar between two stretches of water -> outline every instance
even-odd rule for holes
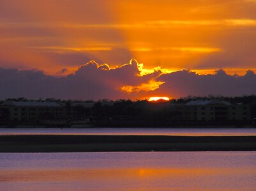
[[[0,136],[0,152],[256,151],[256,136]]]

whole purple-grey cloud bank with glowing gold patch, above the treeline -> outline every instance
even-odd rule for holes
[[[50,76],[42,71],[0,68],[0,99],[55,97],[60,99],[143,99],[151,96],[256,94],[256,74],[229,75],[188,70],[143,74],[143,66],[132,59],[120,67],[88,62],[68,76]]]

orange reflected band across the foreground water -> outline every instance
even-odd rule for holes
[[[137,178],[189,178],[190,176],[227,176],[255,174],[254,168],[105,168],[105,169],[15,169],[0,171],[0,182],[5,181],[72,181]]]

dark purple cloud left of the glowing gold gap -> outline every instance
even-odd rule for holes
[[[0,99],[8,97],[61,99],[119,99],[129,95],[120,90],[122,85],[137,85],[137,63],[106,70],[95,62],[79,67],[75,74],[61,78],[41,71],[0,69]]]

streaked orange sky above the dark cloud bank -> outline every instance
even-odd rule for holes
[[[245,74],[256,71],[255,13],[253,0],[2,0],[0,67],[59,75],[134,58],[144,69]]]

